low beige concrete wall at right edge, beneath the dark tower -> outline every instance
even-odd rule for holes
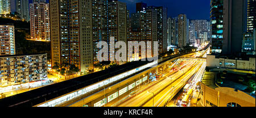
[[[233,64],[233,65],[230,65],[230,64]],[[255,71],[255,58],[250,58],[249,60],[234,60],[234,59],[215,58],[215,55],[207,55],[207,67],[234,68],[234,69],[246,69],[250,71]]]

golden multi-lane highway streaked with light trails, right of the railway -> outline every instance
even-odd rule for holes
[[[208,49],[209,50],[209,49]],[[206,52],[197,52],[190,58],[206,56]],[[151,88],[144,89],[133,98],[127,99],[118,107],[163,107],[183,88],[189,79],[192,80],[191,88],[196,88],[196,83],[201,80],[206,62],[204,61],[184,61],[180,68],[168,68],[169,70],[162,79]],[[175,70],[175,72],[174,72]]]

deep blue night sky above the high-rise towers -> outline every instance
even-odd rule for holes
[[[32,0],[29,0],[32,3]],[[47,2],[49,0],[46,0]],[[80,0],[81,1],[81,0]],[[136,11],[136,3],[144,2],[147,6],[167,7],[168,16],[186,14],[188,19],[207,19],[210,16],[210,0],[119,0],[125,2],[130,13]]]

